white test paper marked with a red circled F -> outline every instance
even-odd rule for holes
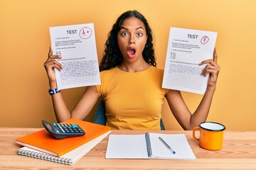
[[[213,57],[216,38],[215,32],[171,28],[162,88],[204,94],[209,74],[203,77],[206,64],[198,64]]]

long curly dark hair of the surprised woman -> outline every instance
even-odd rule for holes
[[[100,71],[112,69],[113,67],[117,67],[122,64],[123,57],[117,43],[117,33],[121,29],[122,22],[127,18],[131,18],[132,16],[138,18],[145,25],[147,40],[142,55],[147,63],[156,67],[151,28],[149,27],[149,23],[146,21],[146,18],[144,18],[142,13],[134,10],[122,13],[122,15],[117,18],[117,22],[114,23],[112,30],[110,30],[105,43],[105,52],[102,57],[102,61],[100,62]]]

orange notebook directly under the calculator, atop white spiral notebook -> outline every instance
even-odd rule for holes
[[[43,129],[24,137],[19,137],[16,139],[16,143],[18,145],[30,147],[31,149],[36,149],[38,151],[51,154],[55,157],[60,157],[63,154],[80,147],[86,142],[95,139],[95,137],[99,137],[100,135],[110,132],[111,130],[111,128],[108,126],[89,123],[83,120],[70,119],[64,121],[63,123],[75,123],[80,125],[82,130],[85,131],[85,135],[80,137],[67,137],[63,140],[56,140],[46,129]]]

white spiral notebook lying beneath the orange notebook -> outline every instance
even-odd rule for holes
[[[85,143],[84,145],[81,145],[80,147],[77,147],[73,149],[72,151],[63,154],[61,157],[55,157],[50,154],[46,154],[43,152],[40,152],[35,149],[31,149],[29,147],[21,147],[18,149],[17,154],[26,156],[26,157],[33,157],[37,159],[43,159],[50,162],[57,162],[60,164],[68,164],[73,165],[75,162],[77,162],[80,158],[82,158],[87,152],[90,151],[97,143],[102,141],[107,135],[110,134],[111,131],[106,132],[104,135],[101,135],[99,137],[96,137],[94,140],[91,140],[90,142]]]

